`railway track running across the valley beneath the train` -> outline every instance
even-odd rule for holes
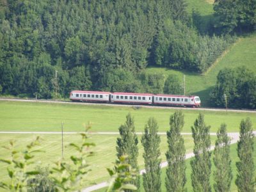
[[[147,106],[147,105],[132,105],[132,104],[109,104],[109,103],[93,103],[93,102],[72,102],[65,100],[51,100],[51,99],[13,99],[1,97],[1,100],[6,101],[19,101],[19,102],[47,102],[47,103],[60,103],[60,104],[80,104],[80,105],[102,105],[102,106],[116,106],[116,107],[134,107],[134,108],[160,108],[160,109],[188,109],[198,111],[222,111],[222,112],[234,112],[234,113],[256,113],[256,110],[250,109],[223,109],[223,108],[185,108],[185,107],[173,107],[173,106]]]

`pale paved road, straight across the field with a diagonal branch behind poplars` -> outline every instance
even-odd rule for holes
[[[79,132],[63,132],[63,134],[78,134]],[[35,131],[26,131],[26,132],[20,132],[20,131],[0,131],[0,134],[61,134],[61,132],[35,132]],[[118,135],[119,132],[88,132],[88,134],[116,134]],[[143,132],[136,132],[136,134],[143,134]],[[158,134],[164,135],[166,132],[159,132]],[[182,132],[182,135],[191,135],[191,132]],[[211,132],[211,135],[216,135],[216,132]],[[256,135],[256,131],[253,131],[253,134]],[[228,136],[230,136],[231,144],[237,143],[239,140],[239,132],[229,132]],[[210,150],[214,149],[214,145],[211,146]],[[186,154],[186,159],[189,159],[191,157],[195,156],[193,152]],[[166,167],[168,164],[167,162],[161,163],[161,168]],[[142,175],[145,173],[145,169],[140,170],[140,174]],[[90,192],[95,191],[97,189],[105,188],[108,186],[108,182],[101,182],[100,184],[96,184],[93,186],[90,186],[88,188],[83,189],[83,192]]]

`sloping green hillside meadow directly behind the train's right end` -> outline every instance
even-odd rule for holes
[[[179,76],[183,81],[186,76],[186,95],[199,95],[202,106],[210,106],[209,93],[214,88],[218,73],[223,68],[235,68],[245,66],[256,72],[256,33],[244,37],[239,37],[237,42],[231,45],[222,56],[216,60],[212,67],[205,74],[195,72],[178,71],[163,67],[149,67],[148,73]],[[224,106],[223,106],[224,107]]]

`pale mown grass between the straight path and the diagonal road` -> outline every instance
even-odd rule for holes
[[[0,146],[8,145],[10,140],[16,141],[16,147],[21,150],[35,139],[37,134],[0,134]],[[88,182],[84,184],[84,187],[90,186],[95,183],[103,182],[109,179],[108,172],[106,168],[113,168],[113,163],[116,159],[116,135],[89,135],[88,141],[95,143],[95,147],[92,147],[92,151],[95,152],[94,156],[88,158],[88,164],[90,164],[90,169],[92,172],[88,173],[86,178]],[[140,168],[143,168],[143,147],[141,146],[141,135],[139,137],[139,153],[138,163]],[[41,167],[52,167],[53,163],[61,159],[61,134],[59,135],[50,135],[50,134],[41,134],[42,138],[40,147],[37,147],[40,150],[44,150],[44,153],[36,154],[35,161],[37,165]],[[212,136],[212,143],[215,140],[215,136]],[[64,146],[67,146],[68,143],[79,143],[81,141],[81,136],[79,134],[68,134],[63,136]],[[186,152],[193,151],[193,139],[191,136],[184,136],[184,143],[186,146]],[[161,159],[162,161],[166,160],[165,152],[167,150],[167,141],[166,136],[161,136]],[[64,158],[68,159],[71,155],[74,154],[74,149],[70,147],[64,148]],[[8,150],[0,150],[1,159],[8,159],[10,154]],[[1,180],[8,180],[8,173],[6,171],[6,164],[0,163],[0,178]],[[0,189],[1,191],[1,189]]]

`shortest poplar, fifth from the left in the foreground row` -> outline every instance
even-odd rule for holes
[[[221,124],[217,132],[213,157],[213,162],[216,166],[216,171],[214,171],[214,190],[223,192],[230,190],[230,183],[233,178],[230,159],[230,138],[228,138],[226,130],[227,125]]]

